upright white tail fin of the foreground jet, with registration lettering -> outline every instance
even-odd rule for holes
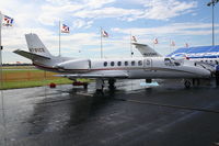
[[[48,57],[51,55],[36,34],[25,34],[28,50],[33,54]]]

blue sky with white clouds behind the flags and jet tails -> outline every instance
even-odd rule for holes
[[[0,0],[0,11],[14,19],[2,27],[3,63],[26,63],[13,54],[25,49],[24,34],[36,33],[51,54],[58,55],[58,22],[70,27],[61,34],[61,55],[100,57],[100,27],[105,57],[130,56],[130,32],[139,43],[153,46],[162,55],[178,47],[211,45],[210,0]],[[216,44],[219,44],[219,3],[215,7]],[[170,47],[170,41],[175,42]],[[135,56],[140,54],[135,50]],[[30,61],[28,61],[30,63]]]

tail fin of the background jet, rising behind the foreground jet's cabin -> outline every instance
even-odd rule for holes
[[[158,52],[146,44],[132,43],[143,57],[161,57]]]

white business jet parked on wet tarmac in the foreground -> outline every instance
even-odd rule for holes
[[[77,78],[96,79],[96,90],[103,90],[104,80],[114,89],[116,79],[192,79],[208,78],[210,71],[193,61],[170,57],[131,57],[131,58],[69,58],[53,56],[36,34],[25,35],[30,52],[14,50],[33,61],[39,69],[60,72],[59,77],[71,80]],[[137,45],[137,44],[136,44]],[[137,45],[138,46],[138,45]],[[191,81],[185,80],[189,87]]]

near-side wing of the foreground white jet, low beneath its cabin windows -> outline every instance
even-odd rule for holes
[[[69,79],[77,79],[77,78],[128,78],[128,74],[125,71],[112,71],[108,70],[107,72],[104,71],[96,71],[96,72],[88,72],[88,74],[70,74],[70,75],[55,75],[56,77],[66,77]]]

